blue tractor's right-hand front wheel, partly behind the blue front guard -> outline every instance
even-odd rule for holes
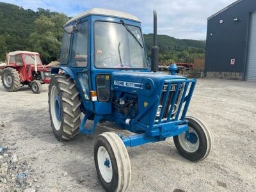
[[[173,137],[175,147],[182,157],[190,161],[202,161],[212,152],[211,129],[202,120],[187,116],[189,131]]]

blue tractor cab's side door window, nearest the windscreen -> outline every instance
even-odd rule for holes
[[[71,54],[73,67],[86,67],[88,56],[88,22],[77,25],[77,33],[74,33]]]

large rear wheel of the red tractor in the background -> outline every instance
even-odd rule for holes
[[[21,87],[19,72],[15,68],[4,68],[2,73],[2,83],[6,91],[17,92]]]

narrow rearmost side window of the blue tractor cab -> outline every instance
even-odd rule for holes
[[[67,64],[68,63],[68,52],[70,46],[70,34],[68,34],[65,30],[63,32],[62,37],[62,45],[61,45],[61,54],[60,54],[60,63]]]

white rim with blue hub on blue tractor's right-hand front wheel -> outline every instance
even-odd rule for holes
[[[187,133],[183,132],[182,134],[179,134],[179,143],[184,150],[193,153],[198,150],[200,141],[196,131],[192,127],[189,127]]]

